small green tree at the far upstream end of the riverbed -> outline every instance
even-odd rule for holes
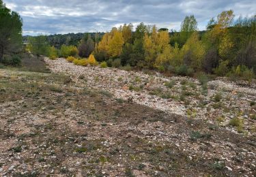
[[[40,55],[48,55],[48,42],[45,35],[38,35],[36,37],[29,37],[29,51],[35,54],[37,57]]]

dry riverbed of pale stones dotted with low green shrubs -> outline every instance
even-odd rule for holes
[[[208,82],[187,77],[165,77],[115,68],[82,67],[65,59],[45,59],[54,73],[64,73],[72,80],[109,91],[115,97],[171,114],[205,120],[230,131],[256,135],[256,84],[241,86],[226,78]],[[241,127],[228,126],[231,119],[241,120]]]

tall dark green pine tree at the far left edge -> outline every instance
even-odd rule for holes
[[[3,54],[17,52],[22,46],[23,22],[17,12],[9,10],[0,1],[0,61]]]

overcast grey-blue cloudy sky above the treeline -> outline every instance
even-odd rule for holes
[[[223,10],[236,16],[256,14],[255,0],[3,0],[23,18],[23,35],[110,31],[139,22],[158,28],[180,29],[194,14],[200,30]]]

